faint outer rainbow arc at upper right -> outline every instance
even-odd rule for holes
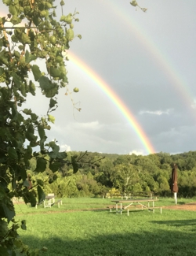
[[[169,55],[163,52],[154,43],[151,36],[147,35],[147,32],[138,22],[136,22],[136,19],[134,19],[131,13],[133,9],[132,6],[130,6],[130,9],[123,9],[121,4],[115,3],[111,0],[105,2],[105,4],[108,6],[110,11],[113,10],[115,15],[125,23],[125,26],[129,27],[129,30],[136,36],[136,39],[138,39],[141,45],[151,54],[156,65],[160,67],[162,72],[165,74],[165,77],[167,77],[167,80],[169,80],[173,87],[175,87],[176,94],[181,98],[183,106],[187,107],[187,109],[193,113],[195,119],[195,112],[191,107],[194,103],[194,94],[190,91],[187,80],[185,80],[185,78],[176,69],[172,60],[169,58]],[[133,10],[135,12],[135,9]],[[147,15],[147,13],[143,13],[143,15]]]

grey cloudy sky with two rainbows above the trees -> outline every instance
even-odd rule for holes
[[[70,43],[71,97],[65,89],[57,96],[48,139],[67,151],[196,150],[195,0],[138,0],[146,13],[129,0],[64,2],[64,15],[79,12],[74,34],[82,39]],[[25,107],[42,116],[48,101],[38,91]]]

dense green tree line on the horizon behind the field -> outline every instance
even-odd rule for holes
[[[78,158],[78,152],[67,152],[67,158]],[[54,173],[46,168],[36,173],[35,161],[31,160],[28,173],[32,184],[43,186],[45,193],[55,193],[59,198],[106,196],[111,188],[121,194],[153,192],[159,196],[171,196],[172,165],[178,166],[178,195],[196,195],[196,151],[183,154],[157,153],[147,156],[136,154],[83,153],[74,173],[72,165],[62,165]],[[35,172],[34,172],[35,170]]]

